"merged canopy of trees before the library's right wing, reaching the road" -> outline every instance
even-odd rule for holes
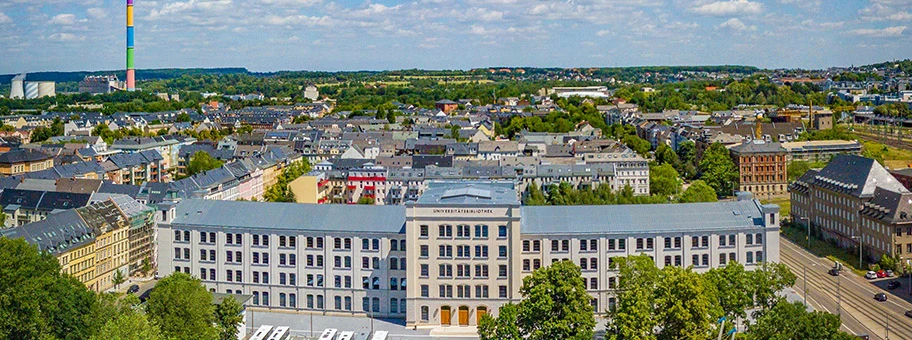
[[[839,332],[838,317],[806,313],[803,306],[801,313],[786,308],[789,303],[777,293],[794,285],[795,275],[781,263],[761,263],[748,271],[738,262],[729,262],[700,274],[691,267],[656,268],[644,254],[613,258],[610,269],[618,272],[618,293],[607,311],[609,339],[715,338],[719,317],[744,319],[749,310],[758,320],[749,328],[750,339],[840,339],[844,335]],[[802,320],[804,325],[788,325],[782,316]],[[825,330],[809,332],[810,327]]]

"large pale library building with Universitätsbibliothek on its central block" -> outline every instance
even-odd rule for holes
[[[184,200],[160,212],[159,275],[183,271],[253,307],[476,325],[520,299],[522,278],[570,260],[597,313],[613,258],[697,271],[779,260],[779,208],[737,201],[521,206],[510,182],[435,182],[406,206]]]

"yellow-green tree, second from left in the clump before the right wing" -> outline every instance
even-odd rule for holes
[[[665,266],[656,289],[659,339],[706,339],[722,316],[715,287],[690,268]]]

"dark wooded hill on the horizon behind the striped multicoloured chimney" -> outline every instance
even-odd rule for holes
[[[55,81],[58,83],[63,82],[78,82],[89,75],[109,75],[114,74],[117,78],[124,80],[127,77],[127,72],[125,70],[116,70],[116,71],[76,71],[76,72],[35,72],[29,73],[26,80],[37,80],[37,81]],[[171,79],[178,78],[183,75],[199,75],[199,74],[250,74],[246,68],[237,67],[237,68],[164,68],[164,69],[147,69],[147,70],[136,70],[136,80],[146,80],[146,79]],[[9,82],[15,77],[15,74],[4,74],[0,75],[0,84],[9,84]]]

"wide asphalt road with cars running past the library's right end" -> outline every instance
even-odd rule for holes
[[[779,240],[782,262],[798,277],[794,288],[801,295],[807,280],[807,301],[811,307],[840,314],[843,330],[850,334],[868,334],[871,339],[912,339],[912,318],[904,315],[912,310],[912,303],[903,300],[909,294],[908,279],[900,288],[888,291],[881,288],[887,279],[878,280],[875,285],[848,270],[831,276],[827,271],[833,267],[833,261],[817,257],[784,237]],[[887,301],[874,300],[876,293],[886,293]]]

